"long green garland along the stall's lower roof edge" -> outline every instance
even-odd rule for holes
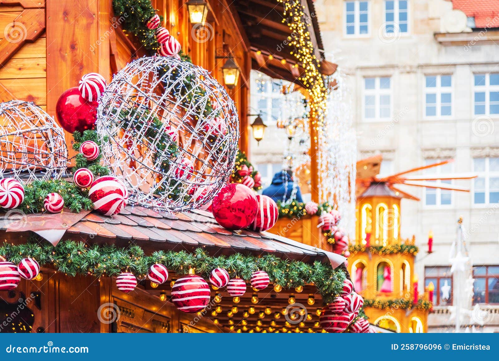
[[[91,274],[94,276],[114,276],[123,270],[130,270],[136,275],[146,275],[149,267],[155,263],[164,264],[178,274],[187,274],[190,268],[205,279],[217,267],[225,268],[231,276],[250,280],[256,270],[268,273],[273,283],[286,288],[295,288],[314,283],[324,303],[330,303],[343,288],[345,273],[332,269],[331,265],[315,261],[313,264],[290,261],[273,255],[255,257],[236,253],[230,256],[209,256],[202,248],[194,253],[186,251],[156,251],[146,256],[139,246],[117,248],[114,245],[92,245],[83,242],[61,241],[57,247],[43,242],[32,241],[13,245],[4,243],[0,255],[13,263],[24,257],[35,259],[41,266],[52,265],[57,271],[67,275]]]

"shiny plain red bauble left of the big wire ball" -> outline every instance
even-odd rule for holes
[[[83,99],[78,87],[74,87],[61,94],[55,106],[55,113],[59,124],[66,132],[83,132],[94,128],[98,105],[98,102],[88,102]]]

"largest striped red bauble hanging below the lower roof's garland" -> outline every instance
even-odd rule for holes
[[[182,312],[202,311],[210,302],[210,286],[198,275],[186,275],[175,281],[172,302]]]

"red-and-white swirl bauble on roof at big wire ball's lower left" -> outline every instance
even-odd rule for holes
[[[119,213],[126,205],[126,195],[127,190],[123,183],[112,176],[97,178],[88,191],[94,209],[104,215]]]

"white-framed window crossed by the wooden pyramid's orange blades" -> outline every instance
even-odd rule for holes
[[[429,166],[430,164],[435,164],[443,161],[444,160],[442,159],[425,159],[425,165]],[[426,170],[425,176],[450,176],[453,172],[453,168],[453,163],[447,163],[442,166],[429,168]],[[434,182],[438,185],[452,184],[452,180],[436,180],[429,182]],[[452,190],[449,189],[425,187],[425,206],[450,206],[452,205],[453,200],[452,193]]]

